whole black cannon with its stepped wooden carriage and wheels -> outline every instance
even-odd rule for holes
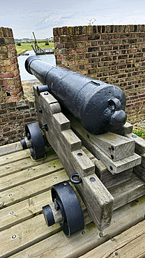
[[[33,86],[40,128],[37,123],[26,124],[23,149],[30,148],[33,160],[45,158],[46,139],[68,175],[68,181],[52,185],[52,204],[42,207],[47,226],[59,222],[70,237],[83,230],[87,210],[102,232],[109,227],[114,208],[121,205],[108,189],[114,192],[114,187],[129,181],[132,168],[141,162],[133,139],[109,132],[128,130],[123,126],[125,95],[117,86],[52,66],[37,56],[29,56],[25,67],[43,85]],[[102,170],[100,162],[105,165]],[[79,205],[82,201],[85,207]]]

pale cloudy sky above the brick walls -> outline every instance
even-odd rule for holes
[[[0,26],[14,38],[53,37],[53,28],[144,24],[145,0],[0,0]]]

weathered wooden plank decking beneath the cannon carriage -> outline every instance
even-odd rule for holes
[[[84,232],[67,238],[59,223],[47,227],[42,207],[52,203],[51,186],[64,180],[68,176],[52,147],[37,162],[18,142],[0,147],[0,257],[145,257],[145,195],[117,208],[103,232],[80,197]]]

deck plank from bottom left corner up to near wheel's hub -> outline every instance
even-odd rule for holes
[[[47,227],[43,214],[10,227],[0,232],[0,257],[9,257],[60,230],[59,223]]]

